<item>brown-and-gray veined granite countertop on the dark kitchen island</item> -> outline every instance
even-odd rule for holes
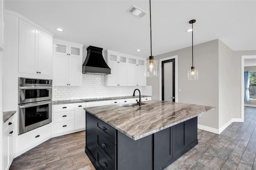
[[[215,107],[151,100],[141,107],[108,105],[84,108],[86,111],[138,140],[198,115]]]

